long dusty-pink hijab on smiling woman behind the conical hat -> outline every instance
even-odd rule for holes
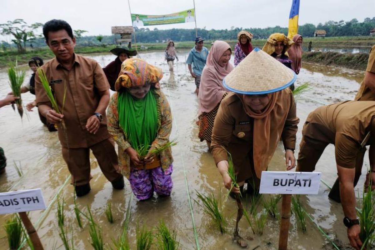
[[[215,41],[210,49],[199,86],[199,115],[214,109],[221,102],[223,95],[228,92],[223,86],[223,79],[233,70],[233,66],[229,61],[224,67],[218,63],[228,49],[231,49],[231,46],[219,40]]]

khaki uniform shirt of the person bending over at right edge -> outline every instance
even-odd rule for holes
[[[368,132],[375,131],[375,102],[346,101],[321,106],[311,112],[306,123],[317,123],[334,135],[336,163],[344,168],[354,168],[356,156]],[[314,138],[314,135],[310,135]],[[318,135],[319,136],[319,135]],[[370,138],[367,144],[372,143]]]

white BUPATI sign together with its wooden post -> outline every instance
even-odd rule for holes
[[[262,172],[259,193],[282,194],[279,250],[288,249],[291,195],[317,195],[320,177],[320,172]]]

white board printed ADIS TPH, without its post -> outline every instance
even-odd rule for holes
[[[41,189],[0,193],[0,214],[44,210],[45,208]]]

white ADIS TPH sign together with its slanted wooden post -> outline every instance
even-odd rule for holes
[[[35,250],[43,250],[39,236],[27,216],[27,211],[46,208],[42,190],[31,189],[0,193],[0,214],[18,213]]]

